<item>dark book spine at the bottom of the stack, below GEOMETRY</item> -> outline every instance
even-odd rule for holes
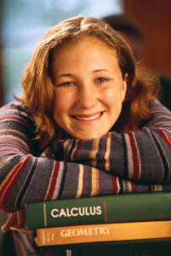
[[[41,247],[41,256],[170,256],[171,239],[111,241]]]

